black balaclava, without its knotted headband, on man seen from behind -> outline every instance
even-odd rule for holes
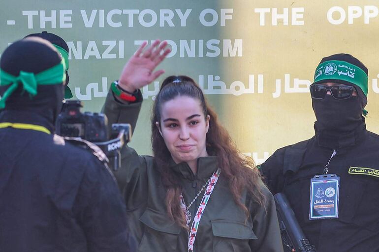
[[[34,38],[11,44],[2,54],[0,67],[3,71],[18,76],[20,71],[38,74],[61,62],[62,58],[48,41]],[[0,86],[1,96],[9,86]],[[37,85],[37,94],[30,96],[22,85],[7,98],[3,111],[22,111],[42,116],[54,130],[55,120],[61,112],[63,83]]]

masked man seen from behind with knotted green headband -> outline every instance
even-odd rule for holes
[[[41,38],[1,55],[0,251],[127,251],[126,209],[109,169],[53,137],[64,72]]]

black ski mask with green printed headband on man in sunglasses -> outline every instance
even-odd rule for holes
[[[345,75],[349,69],[351,73]],[[321,60],[316,68],[314,84],[350,85],[355,88],[357,95],[345,100],[337,100],[331,94],[326,94],[323,99],[312,98],[312,108],[317,119],[316,132],[344,135],[364,122],[362,111],[367,104],[367,79],[367,68],[351,55],[337,54]]]

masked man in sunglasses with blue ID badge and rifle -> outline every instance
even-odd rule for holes
[[[367,83],[368,70],[355,57],[324,57],[310,87],[315,136],[260,166],[319,252],[379,252],[379,136],[362,116]]]

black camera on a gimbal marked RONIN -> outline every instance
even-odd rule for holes
[[[111,132],[108,133],[106,115],[82,113],[80,112],[82,107],[82,102],[79,100],[65,101],[64,110],[57,118],[56,134],[65,140],[87,140],[96,144],[109,159],[113,158],[113,169],[117,170],[121,165],[120,149],[131,138],[130,124],[114,123]]]

